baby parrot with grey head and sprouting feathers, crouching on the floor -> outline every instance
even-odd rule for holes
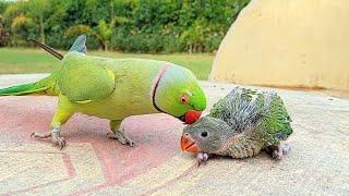
[[[281,145],[291,133],[291,119],[276,93],[236,87],[214,105],[210,113],[183,130],[181,148],[197,154],[198,164],[209,155],[248,158],[265,149],[281,159]]]

